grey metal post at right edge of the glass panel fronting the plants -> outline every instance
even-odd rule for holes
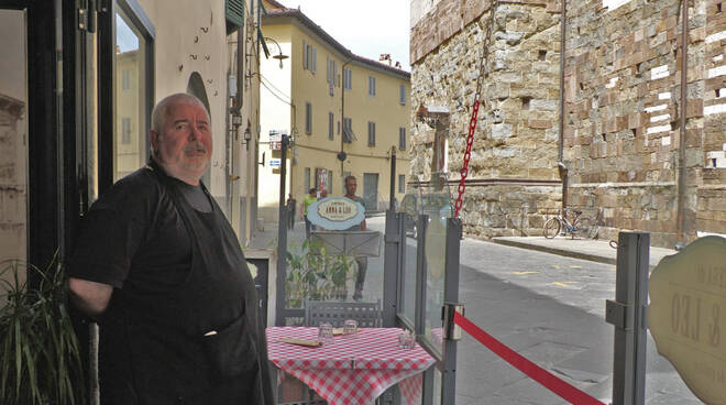
[[[383,256],[383,326],[396,326],[396,310],[398,308],[398,263],[400,233],[398,231],[398,217],[393,210],[386,211],[385,252]]]

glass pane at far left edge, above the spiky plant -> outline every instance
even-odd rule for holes
[[[25,24],[25,11],[0,10],[0,261],[28,260]]]

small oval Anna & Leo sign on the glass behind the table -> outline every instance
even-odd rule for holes
[[[308,207],[308,220],[330,230],[344,230],[365,219],[365,208],[345,197],[326,197]]]

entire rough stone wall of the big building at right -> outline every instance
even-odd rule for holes
[[[417,2],[429,11],[411,30],[413,106],[448,107],[448,171],[455,185],[491,1]],[[535,216],[557,210],[561,201],[553,184],[541,185],[538,197],[521,187],[559,178],[560,94],[566,204],[600,212],[600,238],[644,230],[651,232],[652,244],[672,247],[726,233],[726,4],[686,1],[688,108],[682,111],[681,3],[634,0],[609,10],[602,1],[568,1],[562,91],[560,3],[499,3],[462,211],[470,234],[516,234],[517,227],[502,218],[532,206]],[[411,174],[428,179],[432,130],[415,112],[411,119]],[[524,183],[506,183],[513,178]],[[524,228],[531,234],[540,220],[527,217],[530,225]]]

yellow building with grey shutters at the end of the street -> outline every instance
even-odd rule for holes
[[[400,201],[409,172],[410,74],[352,54],[297,9],[264,3],[271,57],[260,63],[258,214],[277,220],[280,133],[292,136],[285,198],[301,201],[312,187],[343,195],[343,178],[353,175],[366,210],[385,210],[395,153]],[[280,54],[288,57],[274,57]]]

